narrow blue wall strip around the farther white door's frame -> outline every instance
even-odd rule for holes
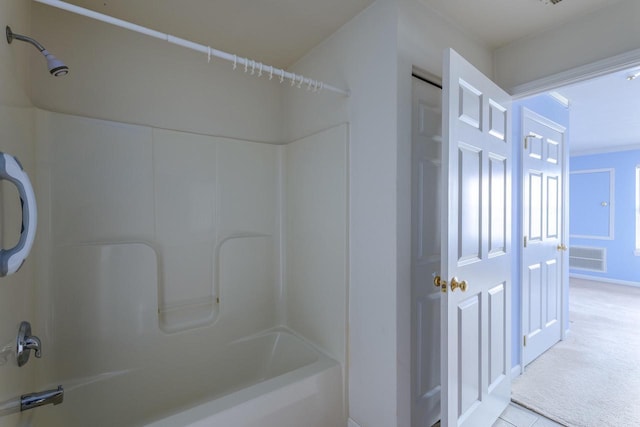
[[[521,298],[521,262],[522,256],[522,244],[520,239],[523,236],[522,233],[522,150],[524,148],[522,139],[522,109],[527,108],[534,111],[549,120],[552,120],[559,125],[567,128],[566,139],[569,141],[569,110],[562,106],[558,101],[549,95],[543,94],[533,98],[525,99],[522,101],[516,101],[513,103],[513,119],[512,119],[512,132],[514,141],[513,150],[513,229],[512,229],[512,245],[515,257],[514,265],[512,266],[511,283],[513,283],[511,292],[511,363],[512,366],[516,366],[520,363],[520,328],[521,328],[521,313],[520,313],[520,298]],[[568,284],[567,284],[568,289]],[[565,292],[565,313],[568,312],[568,298],[566,297],[568,292]],[[565,328],[569,326],[569,316],[565,316]]]

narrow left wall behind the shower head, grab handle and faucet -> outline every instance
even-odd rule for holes
[[[0,24],[9,25],[16,32],[30,31],[31,2],[6,0],[0,2]],[[33,50],[31,52],[30,50]],[[0,43],[0,151],[16,156],[33,181],[33,109],[29,100],[30,55],[38,55],[33,47],[24,43]],[[9,248],[18,241],[20,231],[20,202],[12,184],[0,184],[0,241]],[[15,359],[15,342],[22,320],[33,321],[33,283],[35,260],[30,256],[13,276],[0,278],[0,402],[16,399],[33,390],[39,359],[18,368]],[[39,333],[34,324],[33,333]],[[46,344],[46,343],[45,343]],[[7,427],[23,425],[28,414],[3,417],[0,424]]]

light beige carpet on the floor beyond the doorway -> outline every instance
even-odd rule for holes
[[[572,279],[570,329],[512,399],[568,426],[640,426],[640,288]]]

